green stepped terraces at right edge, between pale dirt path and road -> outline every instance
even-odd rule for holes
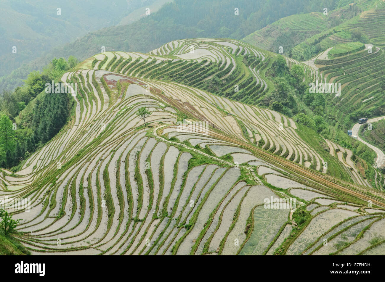
[[[330,103],[330,112],[344,123],[355,123],[360,113],[384,107],[380,83],[384,75],[385,54],[382,45],[371,46],[366,44],[363,50],[315,61],[320,65],[323,82],[326,79],[327,83],[341,83],[340,96],[330,93],[325,97]]]

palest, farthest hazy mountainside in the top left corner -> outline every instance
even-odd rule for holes
[[[0,1],[0,92],[12,91],[32,70],[42,70],[53,57],[62,56],[54,47],[63,47],[85,34],[117,25],[127,14],[135,20],[145,8],[155,12],[165,1]],[[171,0],[169,2],[172,2]],[[60,10],[58,10],[60,9]],[[139,10],[140,9],[140,10]],[[13,46],[17,53],[12,53]],[[100,47],[99,47],[100,51]],[[48,53],[48,55],[44,55]],[[79,55],[81,54],[72,54]],[[70,55],[63,54],[68,58]],[[25,64],[25,65],[24,65]],[[14,71],[13,75],[9,74]],[[7,76],[7,78],[2,78]]]

